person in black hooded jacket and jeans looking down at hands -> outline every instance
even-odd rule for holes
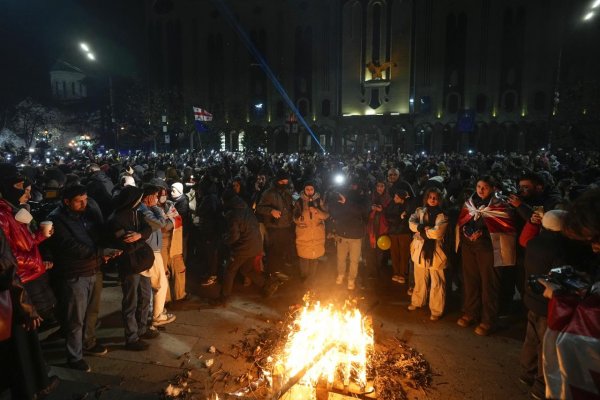
[[[146,243],[152,228],[138,211],[143,190],[126,186],[115,198],[115,211],[108,220],[111,241],[123,254],[117,258],[117,268],[123,290],[122,313],[125,326],[125,348],[146,350],[142,339],[153,339],[158,331],[148,329],[150,310],[149,269],[154,263],[154,252]],[[139,298],[138,298],[139,296]]]

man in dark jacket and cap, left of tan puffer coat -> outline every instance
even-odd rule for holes
[[[256,207],[267,229],[267,271],[273,273],[283,267],[287,255],[294,251],[294,199],[288,189],[289,176],[280,170]]]

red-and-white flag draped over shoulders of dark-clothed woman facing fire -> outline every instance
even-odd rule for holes
[[[483,222],[490,233],[515,233],[515,222],[508,213],[508,206],[505,203],[495,200],[493,197],[487,202],[477,206],[471,196],[467,201],[458,216],[458,225],[462,228],[463,225],[473,220],[477,222],[483,218]]]

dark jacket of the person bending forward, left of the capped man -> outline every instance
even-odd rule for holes
[[[262,252],[258,221],[248,205],[238,196],[225,202],[227,233],[225,243],[234,257],[255,257]]]

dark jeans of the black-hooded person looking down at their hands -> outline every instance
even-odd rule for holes
[[[128,274],[121,276],[121,289],[123,290],[121,312],[125,327],[125,342],[134,343],[147,330],[152,285],[147,276]]]

